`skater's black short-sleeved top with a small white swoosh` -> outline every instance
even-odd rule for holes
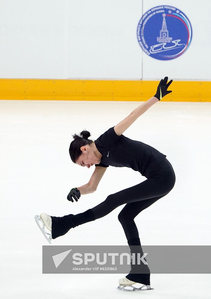
[[[124,135],[118,136],[114,127],[108,129],[94,141],[103,156],[95,167],[129,167],[146,178],[166,155],[141,141],[132,140]]]

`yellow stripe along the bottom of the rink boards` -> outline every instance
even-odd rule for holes
[[[1,100],[145,101],[158,81],[0,79]],[[210,81],[173,81],[161,101],[210,102]]]

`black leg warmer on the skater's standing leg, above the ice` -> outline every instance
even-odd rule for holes
[[[150,285],[150,269],[148,265],[144,265],[142,261],[140,261],[140,265],[137,264],[137,253],[140,253],[140,257],[143,255],[143,250],[141,247],[140,239],[134,238],[128,241],[128,245],[131,250],[131,254],[135,253],[135,265],[132,265],[131,259],[131,271],[126,276],[129,280],[135,281],[137,283],[142,283],[146,285]],[[136,245],[136,246],[134,246]],[[137,246],[138,245],[138,246]],[[146,259],[144,258],[146,261]]]

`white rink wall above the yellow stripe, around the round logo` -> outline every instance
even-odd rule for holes
[[[136,30],[158,0],[0,0],[0,78],[210,80],[211,1],[171,0],[193,38],[180,57],[143,53]],[[143,12],[142,12],[143,5]]]

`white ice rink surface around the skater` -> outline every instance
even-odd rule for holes
[[[96,192],[69,202],[69,190],[86,184],[95,167],[72,163],[72,134],[86,129],[94,141],[141,103],[0,101],[0,298],[210,298],[211,274],[151,274],[154,290],[135,294],[116,289],[127,273],[42,274],[42,245],[51,245],[35,214],[81,213],[146,179],[109,166]],[[211,245],[210,119],[209,102],[160,101],[123,133],[167,155],[176,174],[170,193],[135,218],[142,245]],[[71,229],[52,245],[127,245],[117,219],[122,208]]]

